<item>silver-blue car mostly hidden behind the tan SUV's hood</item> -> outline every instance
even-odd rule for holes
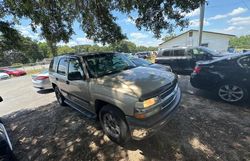
[[[128,57],[129,60],[131,60],[138,67],[139,66],[149,67],[149,68],[155,68],[155,69],[160,69],[160,70],[172,72],[172,69],[170,66],[161,65],[161,64],[154,64],[154,63],[151,63],[145,59],[137,58],[137,57],[127,55],[127,54],[125,54],[125,55]]]

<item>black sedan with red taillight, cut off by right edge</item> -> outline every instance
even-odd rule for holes
[[[226,102],[246,100],[250,92],[250,52],[198,62],[190,81],[196,88],[216,92]]]

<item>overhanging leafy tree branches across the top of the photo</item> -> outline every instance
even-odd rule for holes
[[[103,44],[117,43],[126,38],[116,23],[114,12],[130,16],[137,12],[134,19],[138,29],[151,30],[159,38],[162,30],[169,33],[177,27],[186,27],[188,20],[182,13],[199,7],[205,0],[3,0],[0,18],[3,15],[15,18],[28,18],[35,31],[41,28],[41,35],[47,40],[52,54],[56,54],[57,42],[68,42],[73,32],[73,22],[78,21],[86,37]],[[131,17],[131,16],[130,16]]]

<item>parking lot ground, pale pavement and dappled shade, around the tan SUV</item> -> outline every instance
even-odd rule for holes
[[[0,82],[0,115],[19,160],[250,161],[249,103],[224,103],[192,88],[189,77],[180,85],[175,117],[155,136],[124,147],[103,135],[98,123],[59,106],[53,91],[35,91],[29,76]]]

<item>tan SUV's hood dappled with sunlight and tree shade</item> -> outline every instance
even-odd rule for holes
[[[126,85],[137,97],[141,98],[143,95],[171,84],[176,76],[171,72],[161,72],[154,68],[136,67],[99,79],[102,80],[103,85],[113,85],[113,88],[114,84],[115,88],[124,88]],[[119,83],[120,85],[117,86]]]

